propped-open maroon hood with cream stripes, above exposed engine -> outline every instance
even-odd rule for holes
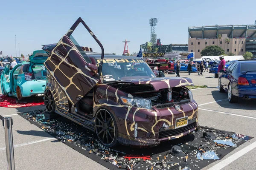
[[[132,79],[132,80],[121,80],[118,82],[111,82],[112,84],[118,83],[133,83],[135,85],[150,84],[154,87],[155,91],[163,88],[173,88],[180,86],[194,85],[192,80],[185,77],[154,77],[154,78],[143,78],[143,79]]]

